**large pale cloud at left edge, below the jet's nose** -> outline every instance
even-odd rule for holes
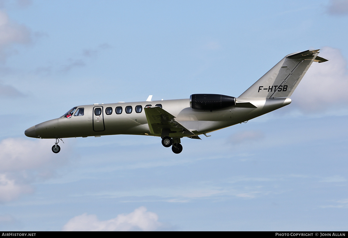
[[[32,183],[54,175],[66,156],[57,160],[52,140],[7,138],[0,142],[0,202],[33,192]],[[64,153],[63,153],[64,154]]]

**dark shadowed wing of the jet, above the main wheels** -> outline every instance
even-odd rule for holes
[[[150,133],[155,136],[170,136],[200,139],[193,133],[193,130],[185,128],[177,122],[174,116],[160,107],[144,108],[146,119],[148,120]]]

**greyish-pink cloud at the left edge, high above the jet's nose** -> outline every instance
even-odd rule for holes
[[[13,44],[27,44],[31,42],[31,32],[23,25],[12,22],[6,12],[0,10],[0,60],[13,53]]]

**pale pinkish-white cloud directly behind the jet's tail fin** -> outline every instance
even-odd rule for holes
[[[347,104],[346,59],[338,49],[330,47],[324,47],[319,56],[329,61],[314,62],[292,95],[293,103],[304,112],[325,111]]]

